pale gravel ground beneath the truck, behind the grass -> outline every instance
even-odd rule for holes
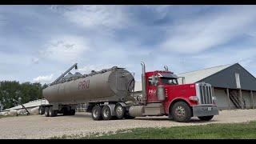
[[[165,116],[93,121],[88,113],[77,113],[74,116],[59,115],[53,118],[30,115],[0,118],[0,138],[52,138],[61,137],[63,134],[86,135],[135,127],[188,126],[250,120],[256,120],[256,110],[222,110],[210,122],[200,122],[198,118],[192,118],[188,123],[170,121]]]

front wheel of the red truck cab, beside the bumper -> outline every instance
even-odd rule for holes
[[[176,102],[172,106],[171,115],[176,122],[189,122],[192,117],[192,111],[186,102]]]

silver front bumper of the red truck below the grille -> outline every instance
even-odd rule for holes
[[[194,117],[218,115],[217,106],[193,106],[192,109]]]

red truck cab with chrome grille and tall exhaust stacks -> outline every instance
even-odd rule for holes
[[[145,72],[142,67],[143,115],[168,115],[174,121],[188,122],[191,117],[209,121],[218,114],[210,84],[178,84],[178,76],[165,68]]]

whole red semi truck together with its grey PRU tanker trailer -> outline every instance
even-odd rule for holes
[[[178,84],[177,75],[167,66],[164,66],[165,70],[146,72],[144,62],[141,64],[142,100],[139,102],[132,98],[134,76],[123,68],[114,66],[91,74],[66,76],[65,79],[62,77],[66,71],[43,90],[43,97],[50,104],[39,107],[39,113],[46,117],[60,113],[73,115],[76,105],[86,102],[86,111],[94,120],[166,115],[176,122],[189,122],[191,117],[210,121],[218,114],[209,83]]]

